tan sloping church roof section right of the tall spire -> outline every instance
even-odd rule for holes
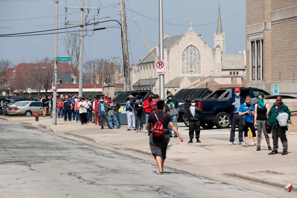
[[[245,69],[243,54],[222,54],[222,70]]]

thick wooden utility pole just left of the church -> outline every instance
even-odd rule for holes
[[[126,13],[125,13],[125,0],[120,0],[120,13],[121,13],[121,23],[123,32],[123,48],[124,48],[124,77],[126,83],[126,90],[131,90],[131,80],[130,80],[130,64],[129,64],[129,52],[128,52],[128,39],[127,39],[127,23],[126,23]]]

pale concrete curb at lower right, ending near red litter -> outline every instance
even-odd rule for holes
[[[224,173],[224,175],[236,177],[236,178],[240,178],[240,179],[246,179],[246,180],[250,180],[253,182],[264,183],[264,184],[281,187],[281,188],[284,188],[287,185],[287,183],[275,182],[275,181],[267,180],[266,178],[259,178],[259,177],[256,177],[256,176],[253,176],[253,175],[247,174],[247,173],[229,172],[229,173]],[[297,192],[297,188],[292,187],[292,191]]]

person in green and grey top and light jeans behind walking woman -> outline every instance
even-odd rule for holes
[[[166,101],[166,112],[171,116],[172,122],[177,127],[177,119],[179,118],[179,102],[173,98],[172,93],[168,93],[168,100]],[[169,129],[169,137],[172,137],[172,129],[168,126]],[[176,133],[174,133],[174,137],[178,137]]]

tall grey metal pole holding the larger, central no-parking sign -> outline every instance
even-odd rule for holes
[[[159,0],[159,53],[160,60],[164,59],[164,44],[163,44],[163,0]],[[165,99],[165,80],[164,74],[159,75],[159,90],[160,90],[160,99]]]

